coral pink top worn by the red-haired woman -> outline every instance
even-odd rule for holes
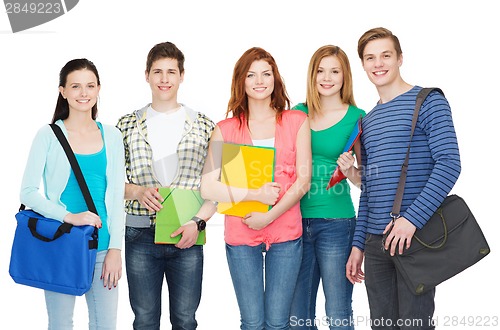
[[[285,110],[281,121],[276,124],[274,181],[280,183],[282,188],[278,201],[297,179],[295,143],[297,133],[306,117],[307,115],[302,111]],[[245,120],[241,127],[236,118],[222,120],[217,125],[224,142],[252,145],[252,138]],[[224,224],[224,238],[227,244],[256,246],[265,243],[266,249],[269,249],[273,243],[294,240],[302,235],[300,203],[297,202],[273,223],[261,230],[250,229],[241,222],[240,217],[231,215],[225,215]]]

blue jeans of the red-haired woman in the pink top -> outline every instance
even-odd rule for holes
[[[289,329],[302,239],[257,246],[226,244],[242,330]]]

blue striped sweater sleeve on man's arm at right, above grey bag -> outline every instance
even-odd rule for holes
[[[421,193],[402,215],[420,229],[455,185],[461,165],[451,109],[443,95],[434,91],[427,97],[418,126],[427,136],[434,167]]]

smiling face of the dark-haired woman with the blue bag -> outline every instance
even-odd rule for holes
[[[68,74],[66,85],[59,86],[61,95],[68,101],[70,111],[91,111],[97,103],[101,86],[96,75],[87,69]]]

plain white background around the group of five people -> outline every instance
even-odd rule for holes
[[[499,318],[498,33],[494,1],[98,1],[81,0],[66,15],[13,34],[0,13],[1,206],[0,295],[2,329],[45,329],[41,290],[13,282],[10,248],[19,206],[19,187],[31,140],[52,118],[58,74],[70,59],[92,60],[101,76],[99,120],[117,119],[150,100],[144,80],[146,55],[158,42],[174,42],[186,56],[179,100],[224,118],[234,63],[248,48],[261,46],[275,57],[293,104],[305,99],[310,56],[335,44],[348,54],[358,106],[369,111],[375,88],[363,72],[356,47],[366,30],[384,26],[399,38],[403,78],[410,84],[441,87],[453,111],[462,174],[453,192],[473,210],[492,253],[440,285],[436,294],[439,328],[485,327]],[[357,196],[355,195],[357,205]],[[239,328],[239,312],[225,260],[222,218],[207,227],[199,329]],[[321,290],[321,289],[320,289]],[[320,292],[318,319],[324,315]],[[170,329],[166,286],[162,329]],[[356,285],[357,329],[368,329],[365,288]],[[475,326],[453,324],[474,318]],[[458,318],[458,319],[457,319]],[[77,299],[75,329],[87,328],[85,299]],[[118,329],[131,329],[126,276],[120,282]],[[491,320],[490,320],[491,321]],[[499,321],[500,322],[500,321]],[[491,322],[490,322],[491,325]],[[488,328],[488,327],[486,327]],[[493,328],[493,327],[491,327]],[[321,326],[320,329],[326,329]]]

